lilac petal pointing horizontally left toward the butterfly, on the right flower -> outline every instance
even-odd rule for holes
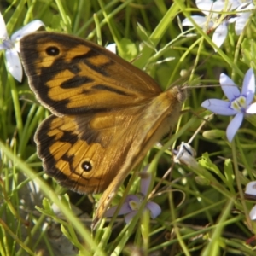
[[[230,102],[225,102],[218,99],[209,99],[201,103],[201,107],[207,108],[213,113],[221,115],[234,115],[236,110],[230,108]]]

